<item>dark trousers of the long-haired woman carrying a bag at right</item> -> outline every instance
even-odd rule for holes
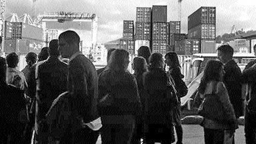
[[[222,129],[204,129],[205,144],[224,143],[224,130]]]

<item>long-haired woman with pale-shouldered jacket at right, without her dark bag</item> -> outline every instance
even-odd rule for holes
[[[229,122],[220,122],[215,120],[215,118],[204,118],[202,125],[204,127],[206,144],[223,143],[225,133],[232,136],[235,129],[238,128],[234,109],[230,103],[227,89],[223,83],[224,74],[224,66],[220,61],[209,60],[205,66],[204,75],[198,89],[199,93],[203,96],[218,96],[223,111],[226,113],[225,117],[230,120]]]

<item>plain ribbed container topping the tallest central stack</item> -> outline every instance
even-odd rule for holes
[[[152,6],[152,22],[167,22],[167,6]]]

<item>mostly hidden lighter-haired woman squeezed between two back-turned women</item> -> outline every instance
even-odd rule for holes
[[[142,111],[145,111],[145,97],[146,92],[143,88],[143,73],[147,72],[147,61],[145,58],[142,56],[135,57],[133,59],[132,67],[134,70],[134,76],[136,78],[137,84],[138,84],[138,92],[139,96],[141,98],[141,103],[142,103]],[[142,113],[143,115],[144,113]],[[135,124],[135,129],[134,129],[134,134],[132,137],[131,143],[133,144],[140,144],[141,143],[141,138],[143,138],[143,116],[138,116],[136,118],[136,124]]]

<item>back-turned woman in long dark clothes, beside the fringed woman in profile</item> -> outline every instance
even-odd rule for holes
[[[143,76],[143,86],[148,96],[145,98],[147,125],[146,143],[172,143],[173,124],[170,115],[172,106],[170,95],[176,95],[172,83],[164,71],[163,55],[154,53],[149,58],[149,71]]]

